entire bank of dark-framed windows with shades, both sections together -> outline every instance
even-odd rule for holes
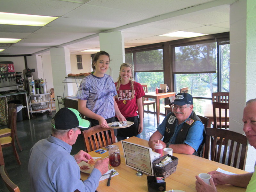
[[[180,88],[189,87],[188,93],[194,97],[197,114],[203,115],[205,104],[211,104],[212,92],[229,92],[229,33],[127,48],[125,51],[125,61],[133,63],[137,82],[147,84],[149,92],[163,83],[177,93]],[[164,104],[167,103],[160,100],[161,113],[164,113]]]

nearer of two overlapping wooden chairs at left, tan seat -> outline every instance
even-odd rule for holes
[[[11,105],[9,104],[8,107],[9,106],[11,106]],[[12,151],[16,157],[18,164],[20,165],[21,164],[20,157],[19,157],[16,147],[15,147],[16,117],[17,117],[16,109],[13,107],[9,107],[8,124],[10,124],[11,136],[1,137],[0,143],[1,143],[2,148],[12,146]]]

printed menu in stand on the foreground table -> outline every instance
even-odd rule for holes
[[[146,146],[122,140],[124,159],[128,167],[140,169],[148,175],[154,175],[152,167],[152,149]]]

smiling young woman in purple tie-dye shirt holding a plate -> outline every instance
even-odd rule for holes
[[[124,116],[117,107],[114,96],[116,87],[111,76],[105,74],[109,67],[110,57],[107,52],[97,52],[92,60],[94,73],[84,77],[76,94],[78,111],[91,121],[92,126],[108,128],[108,123],[119,121]]]

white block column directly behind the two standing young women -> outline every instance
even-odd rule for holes
[[[112,69],[112,73],[110,74],[108,72],[108,74],[112,76],[114,82],[116,82],[119,76],[119,68],[125,61],[124,38],[122,36],[122,32],[116,31],[110,33],[100,33],[100,50],[109,53],[109,67]]]

